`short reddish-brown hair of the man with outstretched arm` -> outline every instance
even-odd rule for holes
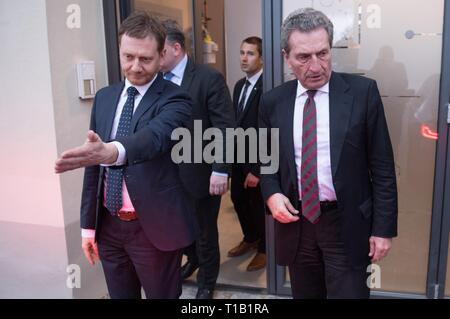
[[[119,44],[124,34],[135,39],[153,36],[158,44],[158,52],[164,50],[166,38],[164,27],[156,17],[145,11],[136,11],[123,20],[119,28]]]

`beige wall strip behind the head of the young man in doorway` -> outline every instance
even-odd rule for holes
[[[262,37],[262,0],[225,0],[226,72],[230,92],[245,76],[239,64],[239,49],[242,40],[249,36]]]

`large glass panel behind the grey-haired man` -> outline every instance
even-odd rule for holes
[[[381,290],[425,293],[433,196],[444,1],[283,1],[323,11],[335,25],[333,69],[377,80],[399,190],[399,237]],[[285,68],[285,79],[291,79]],[[448,285],[447,285],[448,286]]]

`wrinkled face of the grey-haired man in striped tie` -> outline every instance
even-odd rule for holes
[[[294,31],[289,47],[289,54],[283,50],[284,60],[304,88],[317,90],[330,80],[331,48],[325,29]]]

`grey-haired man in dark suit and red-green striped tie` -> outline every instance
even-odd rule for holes
[[[279,128],[279,170],[261,176],[276,258],[294,298],[368,298],[366,268],[397,235],[392,146],[375,81],[331,71],[333,25],[291,13],[282,48],[289,81],[261,97],[260,126]]]

